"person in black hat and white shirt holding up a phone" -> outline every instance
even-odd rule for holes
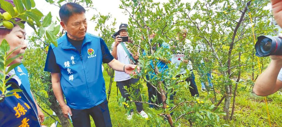
[[[113,51],[112,55],[115,59],[120,61],[123,64],[136,64],[136,60],[138,59],[138,53],[130,53],[130,51],[127,49],[127,42],[132,43],[132,40],[129,39],[128,31],[127,31],[127,24],[120,24],[119,30],[116,34],[113,35],[115,37],[115,42],[113,43]],[[127,90],[124,88],[124,86],[127,86],[127,88],[130,87],[131,84],[135,84],[137,81],[139,81],[139,78],[131,78],[131,76],[125,72],[121,71],[115,71],[115,80],[117,82],[118,89],[120,90],[120,93],[123,98],[126,98],[127,101],[130,99],[128,98],[129,94],[127,93]],[[136,92],[136,94],[140,94],[140,89],[133,89],[133,91]],[[141,95],[139,96],[139,100],[141,101]],[[140,102],[135,102],[136,110],[137,112],[144,118],[148,118],[147,113],[143,110],[143,105]],[[124,105],[125,107],[127,105]],[[133,116],[133,109],[130,110],[129,114],[127,115],[127,119],[131,120]]]

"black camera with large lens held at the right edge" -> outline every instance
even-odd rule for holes
[[[282,38],[278,36],[259,36],[255,45],[256,56],[282,55]]]

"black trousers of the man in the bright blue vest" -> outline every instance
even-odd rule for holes
[[[112,127],[107,100],[93,108],[70,108],[70,110],[73,113],[71,119],[73,120],[74,127],[91,127],[90,116],[93,118],[96,127]]]

